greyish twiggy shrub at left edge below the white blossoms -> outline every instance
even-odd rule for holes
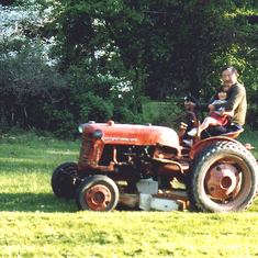
[[[9,43],[1,53],[0,93],[5,110],[2,115],[12,125],[42,127],[42,103],[56,102],[53,92],[66,88],[66,81],[46,64],[36,42],[16,42],[13,49],[16,51],[11,52]]]

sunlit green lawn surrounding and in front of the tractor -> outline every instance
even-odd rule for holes
[[[239,141],[258,148],[257,135]],[[30,134],[1,139],[0,257],[258,257],[258,201],[231,214],[78,212],[53,194],[51,177],[79,149]]]

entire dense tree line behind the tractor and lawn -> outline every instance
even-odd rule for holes
[[[247,124],[258,126],[255,0],[2,4],[2,132],[36,128],[67,137],[89,120],[144,123],[148,102],[183,109],[189,93],[209,100],[225,65],[240,74],[248,96]]]

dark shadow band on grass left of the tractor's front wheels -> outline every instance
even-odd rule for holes
[[[75,200],[58,199],[52,193],[1,193],[1,212],[77,212]]]

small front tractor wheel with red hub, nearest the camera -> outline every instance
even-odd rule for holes
[[[79,210],[108,212],[119,203],[119,188],[116,183],[105,176],[86,178],[79,186],[76,202]]]

